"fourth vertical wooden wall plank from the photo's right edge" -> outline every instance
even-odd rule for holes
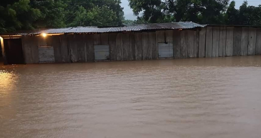
[[[241,33],[241,27],[234,28],[233,56],[240,56]]]

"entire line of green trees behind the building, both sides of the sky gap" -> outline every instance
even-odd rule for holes
[[[35,28],[193,21],[261,25],[261,5],[229,0],[129,0],[136,21],[124,20],[120,0],[1,0],[0,33]]]

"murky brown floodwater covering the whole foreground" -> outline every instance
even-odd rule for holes
[[[0,137],[256,138],[261,56],[0,66]]]

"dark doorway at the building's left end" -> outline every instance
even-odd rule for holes
[[[23,64],[22,39],[4,39],[6,60],[8,64]]]

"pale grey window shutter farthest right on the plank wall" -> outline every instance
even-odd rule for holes
[[[158,57],[173,57],[173,42],[158,43]]]

